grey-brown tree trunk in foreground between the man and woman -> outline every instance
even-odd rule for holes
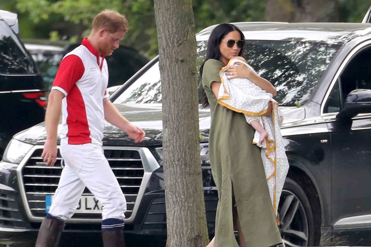
[[[191,0],[154,1],[162,81],[167,246],[208,243]]]

